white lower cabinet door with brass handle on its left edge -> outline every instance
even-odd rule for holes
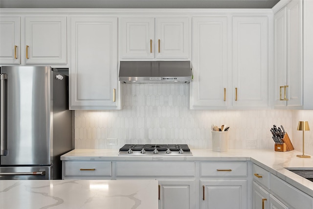
[[[201,180],[201,209],[247,209],[247,180]]]

